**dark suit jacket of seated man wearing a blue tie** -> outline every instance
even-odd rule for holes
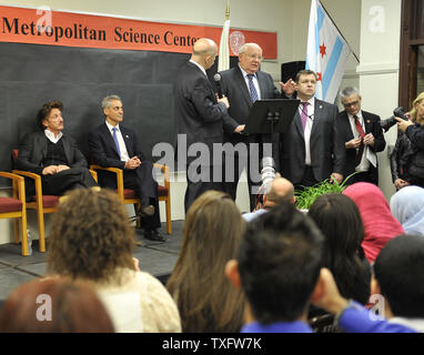
[[[119,125],[127,151],[130,158],[139,156],[144,160],[143,153],[137,140],[135,132],[128,128]],[[89,149],[92,163],[105,168],[119,168],[124,170],[125,162],[121,161],[112,134],[105,123],[97,126],[89,133]],[[117,178],[114,174],[99,172],[99,183],[104,187],[117,187]]]

